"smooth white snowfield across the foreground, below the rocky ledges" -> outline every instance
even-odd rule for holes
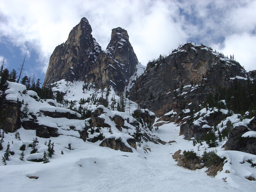
[[[35,137],[35,131],[19,129],[21,141],[14,138],[14,133],[5,134],[4,149],[9,141],[11,150],[29,144]],[[157,145],[143,143],[151,148],[151,152],[145,153],[142,147],[138,147],[134,153],[115,151],[110,148],[99,147],[96,143],[84,142],[81,139],[60,135],[51,138],[54,142],[55,154],[50,163],[22,162],[18,159],[21,151],[16,150],[15,155],[7,161],[7,166],[0,166],[1,191],[254,191],[256,181],[249,181],[238,174],[241,169],[237,161],[241,161],[242,152],[220,151],[222,156],[232,156],[236,153],[237,158],[232,159],[232,164],[224,165],[224,169],[234,170],[232,173],[219,173],[215,178],[207,176],[206,169],[191,171],[179,167],[172,159],[172,154],[181,149],[191,149],[192,141],[183,140],[179,136],[179,127],[174,124],[165,124],[154,131],[160,139],[175,140],[172,145]],[[38,150],[46,150],[44,138],[38,138]],[[13,144],[12,144],[13,141]],[[68,148],[71,143],[71,149]],[[194,147],[196,148],[196,147]],[[64,155],[61,155],[61,150]],[[194,149],[195,150],[195,149]],[[200,153],[201,153],[200,149]],[[217,149],[219,150],[219,148]],[[195,150],[196,151],[196,150]],[[30,151],[25,151],[29,154]],[[234,155],[234,154],[233,154]],[[254,155],[247,154],[248,158]],[[246,157],[247,158],[247,157]],[[228,159],[229,160],[229,159]],[[252,159],[253,160],[253,159]],[[247,166],[249,164],[240,164]],[[250,167],[251,168],[251,167]],[[254,173],[256,173],[255,168]],[[243,169],[244,170],[244,169]],[[252,170],[250,170],[252,171]],[[242,174],[242,173],[241,173]],[[37,180],[29,179],[28,176],[37,176]],[[227,182],[222,177],[227,177]],[[246,188],[244,187],[246,186]]]

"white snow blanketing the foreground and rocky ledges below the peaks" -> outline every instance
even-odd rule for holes
[[[56,108],[50,106],[46,101],[37,102],[28,94],[19,93],[24,91],[24,87],[20,84],[9,84],[9,91],[7,93],[10,98],[16,100],[18,97],[24,100],[24,103],[29,104],[29,112],[39,112],[39,109],[46,109],[50,111],[71,111],[64,108]],[[75,82],[69,84],[60,81],[55,89],[66,93],[65,99],[79,100],[86,98],[92,91],[82,92],[83,82]],[[70,92],[69,92],[70,91]],[[113,90],[110,95],[114,94]],[[7,96],[8,96],[7,95]],[[7,97],[6,96],[6,97]],[[8,97],[8,98],[9,98]],[[20,100],[19,99],[19,100]],[[116,99],[119,97],[116,96]],[[134,102],[126,99],[131,104],[131,111],[136,109],[137,105]],[[24,107],[24,105],[22,105]],[[77,107],[77,106],[76,106]],[[86,105],[86,107],[96,110],[102,108],[105,113],[100,117],[104,118],[105,123],[111,126],[113,134],[109,132],[108,128],[101,128],[100,132],[104,133],[106,138],[121,138],[126,146],[129,144],[126,139],[132,138],[129,135],[130,129],[134,132],[136,129],[125,120],[125,126],[129,129],[123,129],[122,132],[118,131],[115,123],[110,120],[110,117],[115,115],[122,116],[130,122],[134,118],[129,115],[129,109],[125,112],[118,112],[109,110],[104,106]],[[217,111],[216,108],[206,110],[203,108],[198,112],[200,115],[209,116],[210,113]],[[150,111],[149,111],[150,112]],[[188,113],[189,110],[184,110]],[[224,112],[224,111],[223,111]],[[131,113],[130,113],[131,114]],[[197,113],[195,114],[197,115]],[[157,120],[158,118],[156,118]],[[248,119],[240,122],[237,114],[228,117],[223,124],[225,125],[230,119],[233,123],[238,125],[246,125]],[[193,146],[192,141],[184,140],[180,134],[180,127],[174,123],[167,123],[159,126],[155,131],[152,129],[152,135],[158,136],[161,140],[169,141],[175,140],[176,143],[172,144],[154,144],[152,142],[143,142],[141,146],[137,143],[137,150],[132,148],[133,153],[115,151],[111,148],[100,147],[100,140],[91,143],[84,142],[79,139],[79,133],[76,130],[83,130],[85,126],[84,120],[69,120],[66,118],[52,118],[48,116],[38,116],[37,120],[40,124],[49,125],[58,128],[58,132],[62,135],[58,137],[51,137],[49,139],[38,138],[39,145],[36,146],[37,152],[30,154],[31,148],[28,147],[32,140],[36,137],[35,130],[25,130],[22,127],[17,131],[20,133],[21,140],[15,139],[15,133],[5,133],[3,150],[0,151],[0,156],[4,155],[6,145],[10,143],[10,150],[14,151],[14,155],[10,156],[10,161],[7,165],[0,164],[0,185],[1,191],[16,191],[16,192],[97,192],[97,191],[123,191],[123,192],[145,192],[145,191],[230,191],[230,192],[248,192],[255,191],[256,181],[249,181],[245,178],[252,176],[256,178],[256,169],[251,167],[247,160],[256,163],[256,155],[239,152],[239,151],[225,151],[221,148],[226,140],[218,141],[218,147],[208,147],[205,142],[199,146],[199,143]],[[87,119],[88,121],[89,119]],[[198,121],[193,122],[200,124],[203,122],[202,117]],[[86,122],[88,123],[88,122]],[[75,126],[75,130],[70,130],[70,126]],[[234,125],[235,126],[235,125]],[[220,124],[218,125],[220,128]],[[89,134],[89,138],[94,137],[99,133],[94,132]],[[246,133],[245,133],[246,134]],[[252,136],[253,132],[247,132]],[[44,145],[45,141],[49,140],[54,142],[55,153],[50,158],[50,162],[43,164],[42,162],[36,163],[28,161],[33,158],[42,158],[44,151],[47,152],[47,146]],[[24,151],[25,160],[19,160],[21,151],[20,146],[26,144]],[[68,149],[68,144],[71,144],[71,150]],[[150,148],[151,152],[146,152],[143,147]],[[180,167],[177,162],[172,158],[172,154],[177,150],[191,150],[193,149],[198,156],[202,156],[204,150],[211,151],[217,150],[217,154],[221,157],[226,157],[226,162],[223,171],[218,172],[216,177],[207,176],[206,168],[201,170],[191,171]],[[63,151],[63,155],[61,155]],[[229,170],[230,173],[225,173]],[[36,176],[38,179],[29,179],[29,176]],[[223,182],[222,178],[226,178],[227,182]]]

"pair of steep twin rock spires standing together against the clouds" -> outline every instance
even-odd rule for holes
[[[91,33],[91,25],[82,18],[68,40],[53,51],[43,86],[65,79],[91,82],[100,89],[112,86],[117,93],[124,91],[138,64],[127,31],[112,29],[106,51],[101,51]]]

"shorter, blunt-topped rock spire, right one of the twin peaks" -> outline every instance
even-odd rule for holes
[[[95,83],[98,88],[112,86],[117,93],[124,91],[134,74],[138,59],[123,28],[114,28],[106,51],[100,52],[85,82]]]

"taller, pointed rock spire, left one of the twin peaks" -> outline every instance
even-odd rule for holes
[[[84,80],[91,63],[95,62],[101,51],[91,33],[91,25],[86,18],[82,18],[70,31],[68,40],[54,49],[43,86],[61,79]]]

